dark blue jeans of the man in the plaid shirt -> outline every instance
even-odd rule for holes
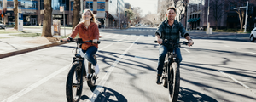
[[[164,45],[159,45],[159,58],[158,58],[158,66],[157,66],[157,74],[162,75],[164,62],[166,58],[166,54],[169,49],[167,49]],[[177,58],[179,63],[183,60],[182,55],[180,53],[180,49],[177,47],[175,48],[175,53],[177,54]]]

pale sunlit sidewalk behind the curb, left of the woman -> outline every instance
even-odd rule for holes
[[[114,30],[117,30],[117,29],[99,29],[99,31],[114,31]],[[0,31],[3,31],[3,30],[0,30]],[[24,54],[24,53],[35,51],[38,49],[49,48],[49,47],[64,44],[61,42],[55,42],[55,43],[49,42],[47,44],[31,43],[29,41],[32,41],[38,37],[10,36],[11,34],[20,33],[19,31],[13,30],[13,28],[9,28],[6,31],[11,31],[11,33],[0,34],[0,59],[13,56],[16,54]],[[36,33],[41,33],[41,31],[36,31]],[[61,35],[64,35],[63,31],[61,31]]]

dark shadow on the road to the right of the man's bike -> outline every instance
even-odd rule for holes
[[[178,102],[218,102],[206,94],[201,94],[189,88],[180,88]]]

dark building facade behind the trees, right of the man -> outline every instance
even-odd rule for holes
[[[237,3],[239,3],[239,0],[234,1],[237,1]],[[222,11],[223,13],[223,15],[218,19],[218,29],[240,30],[239,15],[234,9],[238,8],[235,6],[236,4],[230,3],[228,0],[219,0],[218,5],[221,5],[219,3],[224,4],[218,7],[218,10]],[[212,3],[210,3],[209,5],[210,8],[208,22],[210,23],[210,27],[216,29],[217,23],[213,14],[214,10],[212,8]],[[246,6],[246,3],[244,4],[244,6]],[[201,0],[201,3],[189,3],[189,29],[196,30],[199,27],[207,28],[207,8],[208,0]],[[247,31],[251,31],[254,27],[256,27],[256,2],[253,2],[253,0],[249,1],[247,16]]]

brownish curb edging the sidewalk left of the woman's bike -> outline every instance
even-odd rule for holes
[[[10,57],[10,56],[14,56],[14,55],[18,55],[18,54],[25,54],[25,53],[32,52],[32,51],[35,51],[35,50],[38,50],[38,49],[49,48],[49,47],[53,47],[53,46],[59,46],[61,44],[65,44],[65,42],[55,42],[55,43],[50,43],[50,44],[45,44],[45,45],[42,45],[42,46],[34,47],[34,48],[20,49],[18,51],[12,51],[12,52],[9,52],[9,53],[6,53],[6,54],[0,54],[0,59],[7,58],[7,57]]]

